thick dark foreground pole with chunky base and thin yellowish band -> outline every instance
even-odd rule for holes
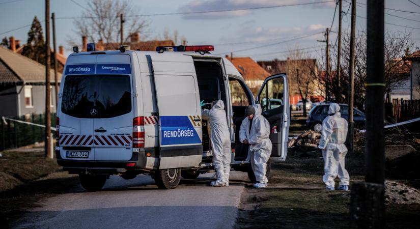
[[[384,0],[367,9],[366,182],[352,186],[350,215],[352,228],[384,228]]]

